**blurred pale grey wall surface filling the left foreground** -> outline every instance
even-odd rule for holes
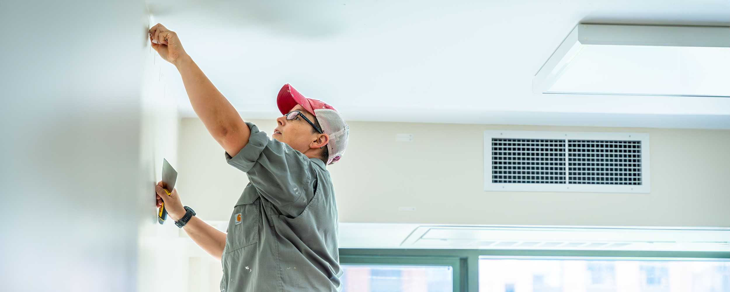
[[[142,1],[0,1],[0,291],[134,291]]]

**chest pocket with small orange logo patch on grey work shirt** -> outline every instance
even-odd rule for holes
[[[253,186],[249,185],[236,202],[231,220],[228,222],[226,248],[230,253],[241,247],[258,242],[258,225],[261,220],[261,199]]]

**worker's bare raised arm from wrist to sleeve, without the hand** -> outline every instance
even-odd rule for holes
[[[190,56],[175,62],[183,77],[185,91],[193,110],[208,129],[213,139],[229,155],[235,156],[248,142],[250,129],[233,105],[215,88]]]

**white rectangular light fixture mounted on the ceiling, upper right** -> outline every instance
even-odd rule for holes
[[[730,96],[730,27],[579,24],[535,93]]]

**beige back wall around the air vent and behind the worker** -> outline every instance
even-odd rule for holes
[[[274,128],[274,120],[250,121]],[[727,130],[348,124],[345,158],[328,167],[341,222],[730,226]],[[486,129],[648,132],[651,193],[483,191]],[[401,133],[414,134],[413,142],[396,142]],[[207,220],[226,220],[247,183],[194,118],[181,124],[179,181],[185,204]]]

